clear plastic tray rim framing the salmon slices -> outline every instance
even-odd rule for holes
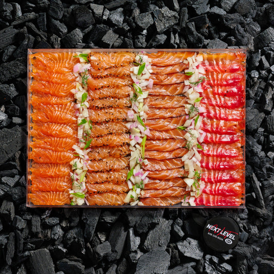
[[[32,142],[32,136],[30,135],[30,130],[31,130],[31,113],[32,113],[32,105],[30,103],[30,98],[32,96],[31,93],[31,83],[32,83],[32,77],[31,77],[31,71],[32,71],[32,65],[30,62],[31,54],[33,53],[38,53],[38,52],[83,52],[87,49],[29,49],[28,50],[28,113],[27,113],[27,128],[28,128],[28,140],[27,140],[27,148],[28,148],[28,156],[29,153],[31,152],[31,147],[30,143]],[[246,49],[88,49],[90,51],[94,52],[115,52],[115,51],[130,51],[130,52],[147,52],[147,53],[152,53],[152,52],[158,52],[158,51],[167,51],[167,52],[178,52],[178,51],[195,51],[195,52],[208,52],[208,53],[229,53],[229,52],[241,52],[244,53],[246,56]],[[244,78],[246,77],[245,75],[246,71],[244,71]],[[245,92],[244,92],[245,96]],[[245,98],[244,98],[245,100]],[[245,106],[244,106],[244,111],[245,111]],[[245,130],[242,131],[244,134],[245,138]],[[245,163],[245,146],[243,146],[243,159]],[[100,207],[100,208],[244,208],[245,207],[245,182],[243,182],[243,203],[240,206],[181,206],[181,204],[173,205],[173,206],[130,206],[130,205],[122,205],[122,206],[89,206],[89,205],[83,205],[83,206],[71,206],[71,205],[33,205],[30,201],[29,194],[31,193],[31,171],[30,168],[32,166],[32,160],[28,157],[27,161],[27,196],[26,196],[26,205],[28,207]],[[242,170],[243,175],[245,175],[245,169]]]

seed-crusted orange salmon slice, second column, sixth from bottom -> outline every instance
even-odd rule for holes
[[[118,147],[130,142],[130,135],[126,133],[110,134],[101,137],[93,138],[90,143],[93,147],[102,147],[103,145],[109,145],[109,147]]]

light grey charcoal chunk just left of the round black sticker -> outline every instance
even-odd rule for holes
[[[187,238],[185,241],[177,242],[179,251],[186,257],[200,260],[203,258],[203,250],[197,240]]]

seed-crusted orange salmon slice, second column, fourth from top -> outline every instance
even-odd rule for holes
[[[92,99],[101,99],[107,97],[124,98],[129,97],[133,92],[133,86],[103,87],[100,89],[89,90],[88,95]]]

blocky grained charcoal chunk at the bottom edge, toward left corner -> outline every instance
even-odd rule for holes
[[[32,273],[55,274],[54,265],[47,249],[31,251],[29,260]]]

